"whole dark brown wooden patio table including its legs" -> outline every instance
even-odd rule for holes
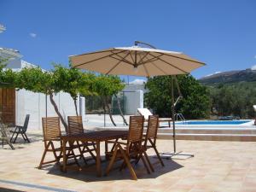
[[[128,135],[128,131],[92,131],[79,135],[62,136],[63,142],[63,172],[67,171],[67,150],[66,145],[68,142],[94,142],[96,143],[96,172],[98,177],[102,177],[101,166],[101,148],[100,143],[106,142],[112,139],[125,138]]]

